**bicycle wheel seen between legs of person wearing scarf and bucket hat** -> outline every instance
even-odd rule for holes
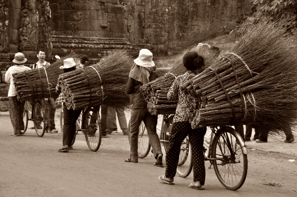
[[[130,125],[130,122],[129,122]],[[145,158],[148,156],[150,150],[148,131],[145,123],[142,121],[139,126],[138,134],[138,158]]]

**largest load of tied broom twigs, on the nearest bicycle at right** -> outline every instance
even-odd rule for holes
[[[182,87],[199,100],[192,128],[243,123],[273,135],[295,126],[297,54],[284,25],[289,20],[262,18],[231,52]]]

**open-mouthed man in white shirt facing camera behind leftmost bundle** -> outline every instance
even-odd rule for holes
[[[44,49],[37,50],[37,58],[38,62],[33,64],[33,69],[41,69],[45,66],[49,66],[50,63],[45,61],[45,51]],[[45,132],[49,133],[57,133],[58,130],[56,129],[55,125],[55,112],[56,112],[56,105],[54,98],[47,99],[48,106],[45,106],[45,115],[48,115],[49,121],[47,121],[47,126],[45,128]]]

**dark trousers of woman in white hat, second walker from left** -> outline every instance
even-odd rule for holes
[[[63,146],[71,146],[76,129],[75,122],[79,117],[81,110],[82,109],[68,110],[66,105],[63,106]]]

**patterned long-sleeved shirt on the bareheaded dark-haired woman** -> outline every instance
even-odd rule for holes
[[[195,75],[197,75],[196,71],[187,71],[184,75],[178,76],[167,93],[168,100],[178,101],[173,122],[189,121],[189,110],[194,108],[194,98],[190,94],[186,94],[180,86],[187,80],[192,79]]]

